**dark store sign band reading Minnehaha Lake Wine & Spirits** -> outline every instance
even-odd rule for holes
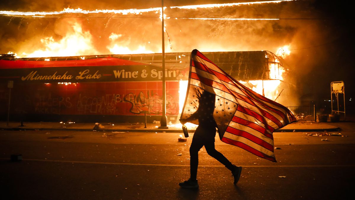
[[[187,69],[188,70],[188,69]],[[112,81],[158,81],[163,78],[160,67],[152,65],[130,66],[81,66],[2,69],[3,77],[18,77],[29,82],[112,82]],[[165,79],[187,80],[180,70],[165,70]],[[16,80],[16,79],[15,79]],[[17,81],[16,80],[16,81]]]

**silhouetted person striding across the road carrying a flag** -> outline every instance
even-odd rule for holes
[[[192,120],[198,120],[198,127],[193,135],[190,146],[190,179],[179,183],[182,188],[198,188],[197,167],[198,167],[198,151],[204,146],[208,155],[217,159],[226,168],[232,172],[234,184],[240,178],[242,167],[233,165],[229,160],[214,148],[214,138],[216,135],[217,124],[213,119],[213,111],[215,104],[215,94],[203,91],[198,94],[199,106],[195,113],[187,119],[180,119],[182,124]]]

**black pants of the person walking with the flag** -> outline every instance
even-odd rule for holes
[[[233,170],[233,164],[214,148],[215,128],[203,128],[198,126],[193,135],[190,146],[190,179],[196,180],[198,167],[198,151],[204,146],[208,155],[218,160],[229,170]]]

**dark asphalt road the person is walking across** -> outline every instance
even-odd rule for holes
[[[2,199],[354,199],[355,123],[342,135],[274,133],[277,163],[216,138],[216,149],[241,165],[229,170],[201,149],[200,189],[189,177],[189,146],[179,133],[0,131]],[[320,134],[320,132],[318,132]],[[328,139],[322,141],[321,139]],[[23,160],[11,162],[11,154]],[[180,155],[181,154],[181,155]]]

